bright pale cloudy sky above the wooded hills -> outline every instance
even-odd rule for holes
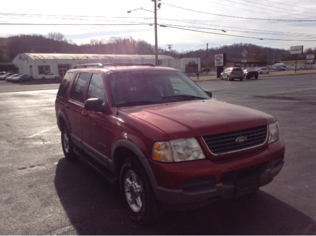
[[[303,45],[304,50],[316,47],[315,0],[157,2],[161,3],[158,47],[163,49],[171,44],[172,50],[183,53],[206,49],[206,43],[208,48],[234,43],[284,49]],[[154,6],[152,0],[2,0],[0,37],[60,32],[77,44],[133,37],[155,45]]]

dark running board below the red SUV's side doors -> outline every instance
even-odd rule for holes
[[[111,184],[118,183],[118,176],[112,173],[110,170],[106,169],[104,166],[96,162],[93,158],[87,155],[78,147],[74,148],[74,152],[78,155],[83,161],[89,164],[92,168],[98,171],[103,177],[105,177]]]

